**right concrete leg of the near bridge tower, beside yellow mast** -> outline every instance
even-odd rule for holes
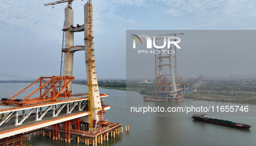
[[[88,25],[88,15],[87,15],[87,7],[88,4],[86,3],[84,5],[84,38],[87,37],[88,35],[88,30],[87,30],[87,25]],[[92,10],[93,10],[93,6],[92,6]],[[89,78],[89,73],[88,73],[88,63],[86,60],[88,60],[88,41],[87,39],[84,40],[84,52],[85,52],[85,64],[86,64],[86,73],[87,73],[87,79]],[[92,60],[94,60],[94,53],[92,53]],[[95,69],[95,61],[93,63],[93,67],[92,67],[92,84],[93,84],[93,97],[92,97],[92,103],[93,103],[93,108],[101,108],[101,102],[100,102],[100,92],[99,92],[99,87],[98,87],[98,81],[97,81],[97,76],[96,76],[96,69]],[[95,128],[97,128],[97,122],[100,120],[100,116],[99,114],[97,114],[97,112],[100,111],[100,109],[97,110],[93,110],[92,111],[92,116],[93,116],[93,121],[95,124],[94,130]],[[87,117],[82,117],[81,119],[84,119],[84,121],[88,121],[88,116]]]

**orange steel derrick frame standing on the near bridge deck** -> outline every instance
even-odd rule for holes
[[[52,101],[55,102],[56,98],[60,97],[70,97],[71,91],[68,91],[66,88],[69,83],[74,79],[74,77],[70,76],[51,76],[51,77],[40,77],[35,82],[31,83],[29,86],[18,92],[17,94],[13,95],[11,98],[2,98],[0,102],[8,104],[16,104],[18,106],[23,105],[29,105],[39,102],[45,102],[45,101]],[[37,83],[39,81],[40,87],[36,89],[34,92],[29,94],[23,99],[13,99],[17,95],[21,94],[23,91],[28,89],[33,84]],[[60,89],[58,91],[58,89]],[[62,91],[65,89],[65,91],[62,93]],[[40,92],[39,98],[29,98],[31,95],[36,93],[37,91]],[[28,99],[29,98],[29,99]]]

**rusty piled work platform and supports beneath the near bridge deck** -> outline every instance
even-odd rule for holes
[[[6,137],[5,139],[0,139],[0,144],[8,145],[17,144],[22,140],[30,141],[31,134],[33,135],[36,133],[36,135],[41,135],[43,137],[49,136],[49,138],[52,138],[53,140],[59,140],[68,143],[70,143],[71,140],[75,140],[77,143],[85,143],[85,145],[92,144],[93,146],[97,146],[97,143],[102,144],[103,140],[108,141],[109,137],[123,135],[123,127],[121,127],[120,123],[107,122],[102,126],[102,128],[94,131],[93,133],[91,133],[90,130],[79,130],[83,127],[83,124],[78,118],[75,119],[75,121],[65,121],[63,123],[54,124],[49,127],[43,127],[36,130],[20,133],[15,136]],[[125,133],[129,134],[129,125],[125,125]]]

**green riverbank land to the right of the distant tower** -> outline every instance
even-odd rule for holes
[[[185,95],[185,98],[256,103],[255,80],[210,80],[206,86],[196,92]]]

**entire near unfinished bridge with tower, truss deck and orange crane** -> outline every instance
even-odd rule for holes
[[[91,0],[87,1],[84,5],[84,25],[74,26],[72,1],[60,0],[45,4],[48,6],[68,2],[62,29],[64,61],[61,76],[41,76],[11,98],[0,100],[1,146],[22,146],[23,140],[30,140],[30,134],[35,132],[52,137],[53,140],[70,143],[77,139],[78,143],[96,146],[102,140],[108,141],[108,136],[115,137],[116,134],[123,133],[120,123],[110,123],[103,116],[110,106],[103,104],[103,98],[108,94],[100,94],[97,83],[92,29],[93,5]],[[84,32],[84,45],[74,46],[74,32]],[[85,52],[88,93],[72,94],[76,51]],[[39,88],[33,91],[31,88],[34,84],[39,85]],[[28,92],[29,95],[20,98],[20,94]],[[129,131],[129,126],[126,131]]]

